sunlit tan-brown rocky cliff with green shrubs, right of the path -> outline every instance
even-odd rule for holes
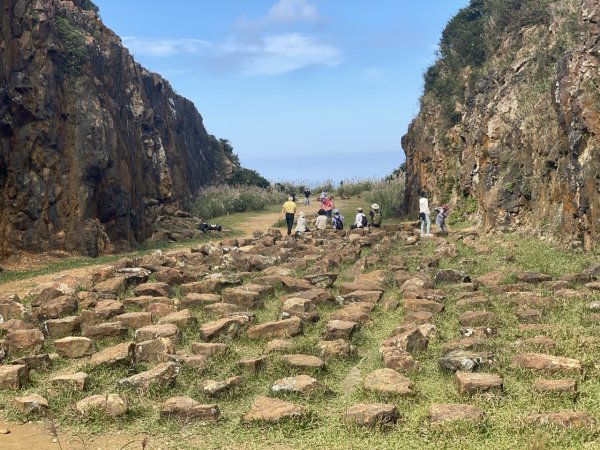
[[[590,248],[600,232],[600,2],[472,0],[402,139],[418,191],[487,228]]]

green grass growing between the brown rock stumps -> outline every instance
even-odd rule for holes
[[[346,222],[353,217],[356,206],[365,208],[364,200],[352,199],[343,204],[343,213]],[[275,211],[272,211],[275,212]],[[231,225],[245,221],[251,216],[231,216]],[[472,277],[484,273],[502,270],[508,276],[522,271],[541,271],[553,277],[565,273],[578,272],[591,263],[597,261],[597,253],[578,253],[554,248],[547,243],[528,240],[512,234],[504,234],[482,239],[489,252],[479,254],[472,246],[465,245],[461,240],[450,237],[451,244],[456,247],[457,255],[444,258],[440,262],[442,268],[456,268]],[[435,255],[437,246],[431,241],[424,241],[417,246],[404,247],[402,240],[379,250],[363,249],[362,256],[380,256],[371,269],[388,271],[387,258],[389,255],[404,255],[411,270],[415,270],[424,257]],[[463,264],[463,260],[471,260]],[[94,260],[97,261],[97,260]],[[348,270],[354,262],[346,261],[340,267],[338,284],[352,280]],[[302,276],[314,270],[314,265],[296,271],[296,276]],[[512,274],[512,275],[511,275]],[[391,273],[387,272],[388,281],[385,283],[385,299],[403,298],[398,288],[389,282]],[[255,275],[246,275],[250,281]],[[553,427],[535,427],[527,425],[523,417],[527,414],[538,412],[554,412],[559,410],[587,411],[596,419],[600,419],[600,369],[597,364],[597,354],[600,350],[600,340],[587,346],[581,345],[586,336],[597,336],[600,332],[600,322],[593,323],[589,319],[590,312],[586,305],[592,300],[600,300],[600,294],[589,293],[585,299],[569,300],[557,298],[556,295],[543,288],[533,287],[538,292],[550,297],[555,297],[553,306],[543,309],[544,323],[556,324],[556,329],[550,331],[549,337],[556,341],[554,349],[539,349],[523,344],[524,338],[533,337],[534,332],[519,332],[516,318],[516,307],[512,306],[506,295],[491,295],[486,289],[491,300],[488,308],[497,315],[499,333],[487,342],[487,349],[493,351],[497,363],[486,371],[497,373],[504,380],[504,391],[499,395],[478,395],[474,397],[460,397],[457,394],[452,374],[443,371],[437,364],[437,359],[442,353],[445,342],[459,338],[458,317],[463,312],[455,305],[460,289],[442,286],[447,293],[444,300],[445,310],[436,316],[435,325],[438,328],[436,337],[432,338],[429,347],[414,355],[420,362],[420,368],[407,374],[414,384],[415,394],[411,397],[385,397],[369,392],[360,385],[347,391],[344,389],[346,377],[354,368],[358,368],[364,377],[370,371],[383,366],[379,356],[378,347],[382,340],[389,337],[391,331],[403,321],[402,307],[397,310],[385,311],[376,307],[372,313],[372,321],[364,325],[352,337],[352,343],[357,348],[357,353],[350,358],[331,359],[327,366],[316,371],[297,371],[287,368],[276,355],[271,357],[265,367],[257,373],[250,373],[239,367],[237,362],[241,359],[260,356],[264,354],[266,341],[253,341],[241,332],[238,337],[228,342],[217,339],[216,342],[228,342],[230,350],[218,357],[211,359],[209,366],[204,370],[183,367],[177,383],[172,389],[152,388],[142,395],[126,389],[116,387],[119,378],[130,375],[126,368],[107,369],[83,367],[91,378],[91,383],[86,392],[62,392],[48,397],[50,413],[59,429],[69,428],[82,433],[105,433],[110,431],[124,431],[135,435],[138,433],[150,434],[150,442],[156,446],[164,447],[165,442],[177,442],[177,448],[236,448],[236,449],[262,449],[262,448],[465,448],[465,449],[514,449],[514,448],[597,448],[600,438],[598,429],[558,429]],[[331,289],[332,294],[337,294],[337,288]],[[276,289],[264,298],[264,307],[255,311],[257,322],[276,320],[280,311],[281,289]],[[303,335],[291,339],[290,353],[305,353],[317,355],[317,341],[328,319],[337,310],[335,305],[322,305],[318,307],[321,320],[308,325]],[[198,323],[213,320],[204,314],[202,308],[193,308],[193,313],[198,318]],[[177,347],[177,352],[185,354],[190,351],[191,344],[198,341],[198,326],[192,325],[184,331],[184,339]],[[101,347],[111,344],[102,341]],[[48,344],[46,351],[52,351]],[[584,372],[575,375],[579,383],[579,396],[574,400],[564,395],[551,395],[536,393],[531,389],[531,384],[537,378],[560,378],[559,374],[535,374],[530,371],[515,369],[510,366],[512,358],[525,351],[539,351],[558,356],[577,358],[582,362]],[[77,362],[58,362],[52,370],[33,372],[32,381],[20,393],[44,394],[48,387],[49,375],[57,369],[66,372],[73,368]],[[147,365],[138,365],[137,372],[148,368]],[[288,421],[278,425],[243,425],[241,417],[250,408],[258,395],[274,396],[270,392],[273,382],[282,377],[307,373],[317,378],[331,389],[330,393],[321,393],[302,397],[298,395],[276,395],[279,398],[305,405],[309,414],[306,418],[297,421]],[[243,383],[216,398],[205,395],[200,385],[207,379],[223,380],[233,375],[243,377]],[[569,375],[571,376],[571,375]],[[102,415],[80,420],[73,412],[75,401],[96,393],[117,392],[124,396],[130,405],[130,411],[125,417],[113,420]],[[217,423],[180,423],[175,420],[161,419],[158,407],[161,402],[176,395],[187,395],[201,403],[216,403],[222,412],[222,418]],[[0,391],[0,404],[8,405],[14,393]],[[402,416],[396,427],[389,430],[369,430],[348,425],[342,420],[346,409],[358,402],[391,402],[394,403]],[[481,408],[486,413],[486,418],[479,424],[454,423],[439,427],[429,425],[427,419],[428,408],[432,403],[468,403]],[[5,417],[12,420],[24,420],[14,413],[10,407],[0,411]],[[540,446],[545,442],[546,447]],[[161,445],[163,443],[163,445]],[[537,445],[537,447],[535,447]]]

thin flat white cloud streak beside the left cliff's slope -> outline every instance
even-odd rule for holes
[[[159,39],[125,36],[123,45],[140,56],[169,57],[179,54],[197,54],[212,44],[201,39]]]

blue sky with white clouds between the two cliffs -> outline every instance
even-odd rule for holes
[[[382,177],[468,0],[95,0],[136,61],[273,181]]]

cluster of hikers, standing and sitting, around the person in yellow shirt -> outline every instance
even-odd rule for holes
[[[304,188],[304,205],[310,205],[310,190]],[[335,207],[333,197],[327,195],[326,192],[321,192],[319,195],[320,208],[316,214],[314,226],[317,230],[326,230],[328,227],[334,230],[344,229],[344,216],[340,213],[339,209]],[[281,209],[281,215],[285,217],[287,225],[287,234],[292,234],[292,228],[294,226],[294,219],[296,215],[296,198],[293,193],[290,194],[288,200],[283,204]],[[363,213],[362,208],[356,209],[356,217],[354,223],[350,225],[350,229],[365,228],[365,227],[381,227],[383,215],[381,214],[381,208],[377,203],[371,205],[371,211],[369,211],[369,219]],[[303,211],[298,213],[298,220],[296,221],[295,235],[300,236],[302,233],[310,231],[306,222],[306,214]]]

